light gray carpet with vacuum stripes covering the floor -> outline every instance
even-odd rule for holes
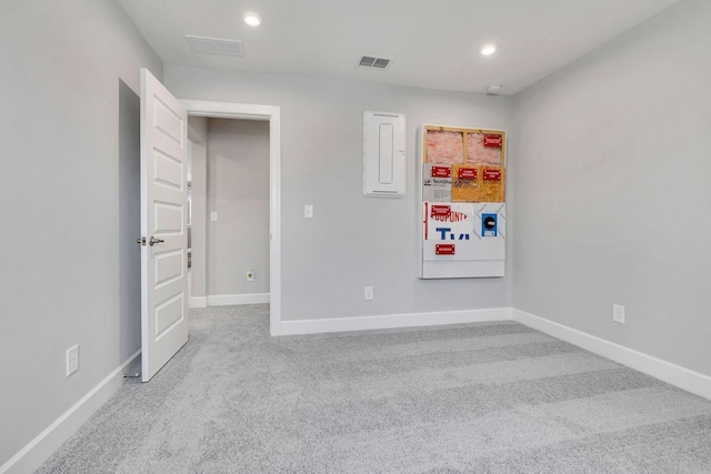
[[[711,473],[711,402],[513,322],[270,337],[191,314],[40,473]]]

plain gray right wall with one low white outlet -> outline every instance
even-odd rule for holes
[[[519,94],[509,177],[517,309],[711,375],[709,31],[682,1]]]

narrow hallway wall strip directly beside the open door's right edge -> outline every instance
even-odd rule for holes
[[[188,138],[191,142],[192,229],[190,250],[191,304],[207,304],[207,208],[208,208],[208,119],[188,118]]]

